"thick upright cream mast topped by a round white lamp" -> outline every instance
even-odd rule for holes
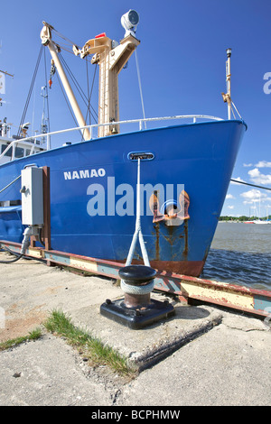
[[[114,123],[119,121],[118,106],[118,74],[125,67],[135,48],[140,43],[135,38],[135,28],[139,16],[135,10],[130,10],[121,18],[126,29],[125,38],[117,43],[110,40],[105,33],[85,43],[82,49],[73,46],[76,56],[84,59],[87,55],[94,55],[91,63],[99,65],[98,88],[98,124]],[[103,125],[98,128],[98,136],[119,133],[119,124]]]

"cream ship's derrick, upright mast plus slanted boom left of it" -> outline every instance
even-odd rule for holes
[[[94,39],[87,41],[82,49],[79,49],[78,46],[73,46],[73,52],[76,56],[80,55],[80,58],[84,59],[89,54],[93,55],[91,63],[98,63],[99,65],[98,124],[108,124],[99,126],[99,137],[119,133],[119,124],[113,124],[119,121],[118,74],[125,67],[126,62],[140,43],[135,38],[135,29],[138,22],[138,14],[135,10],[129,10],[121,18],[121,23],[126,29],[126,33],[125,38],[119,44],[117,41],[110,40],[105,33],[102,33]],[[70,106],[73,109],[79,126],[86,126],[85,119],[70,88],[70,82],[61,66],[58,56],[60,48],[51,40],[51,30],[53,30],[53,27],[45,22],[43,22],[43,25],[41,32],[42,44],[48,46],[51,52],[51,58],[56,69],[58,69],[61,82],[70,100]],[[89,140],[89,130],[84,129],[82,132],[84,139]]]

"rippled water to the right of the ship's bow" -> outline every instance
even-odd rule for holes
[[[201,278],[271,290],[271,225],[220,222]]]

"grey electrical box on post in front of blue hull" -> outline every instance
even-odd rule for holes
[[[25,168],[22,178],[22,224],[43,225],[43,171],[42,168]]]

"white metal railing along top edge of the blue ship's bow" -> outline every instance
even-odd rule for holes
[[[93,140],[93,130],[98,129],[100,126],[112,126],[117,124],[139,124],[139,130],[143,130],[143,124],[145,123],[151,123],[151,122],[157,122],[157,121],[170,121],[173,119],[192,119],[192,123],[196,123],[197,119],[207,119],[207,120],[213,120],[213,121],[224,121],[224,119],[219,118],[217,116],[211,116],[211,115],[174,115],[174,116],[163,116],[163,117],[156,117],[156,118],[142,118],[142,119],[130,119],[126,121],[119,121],[119,122],[110,122],[106,124],[92,124],[92,125],[85,125],[85,126],[77,126],[74,128],[68,128],[65,130],[60,131],[53,131],[51,133],[47,134],[38,134],[38,135],[32,135],[31,137],[22,138],[19,140],[14,140],[14,142],[10,143],[5,151],[0,155],[0,160],[5,156],[5,153],[8,152],[10,149],[13,149],[12,152],[12,160],[14,159],[14,151],[17,144],[20,144],[20,146],[28,146],[31,147],[31,153],[33,154],[36,147],[42,148],[42,144],[36,144],[33,143],[33,140],[37,140],[38,138],[46,138],[47,140],[47,150],[51,149],[51,135],[56,134],[64,134],[64,133],[70,133],[72,131],[83,131],[84,129],[88,128],[90,133],[89,140]],[[95,137],[97,138],[97,137]],[[43,147],[43,149],[45,149]]]

